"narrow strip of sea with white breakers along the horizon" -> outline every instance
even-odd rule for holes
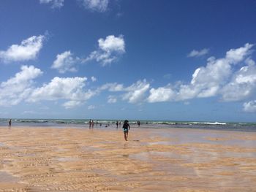
[[[8,126],[9,119],[0,118],[0,126]],[[118,120],[118,122],[124,120]],[[129,120],[133,128],[138,127],[138,120]],[[12,119],[12,126],[52,126],[58,128],[88,128],[89,119]],[[116,128],[116,120],[94,120],[94,128]],[[203,122],[175,120],[140,120],[140,128],[201,128],[226,131],[256,132],[256,123],[252,122]]]

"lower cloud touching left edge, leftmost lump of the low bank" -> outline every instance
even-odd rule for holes
[[[26,99],[33,89],[33,80],[42,74],[42,71],[34,66],[21,66],[20,69],[15,77],[1,82],[0,106],[16,105]]]

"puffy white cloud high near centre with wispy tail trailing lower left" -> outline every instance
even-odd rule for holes
[[[83,62],[95,60],[106,66],[117,61],[119,56],[125,53],[124,37],[120,35],[115,37],[110,35],[106,39],[98,40],[98,50],[94,50],[91,54],[83,60]]]

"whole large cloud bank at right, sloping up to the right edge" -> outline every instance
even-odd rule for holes
[[[208,58],[206,66],[201,66],[192,74],[188,84],[177,83],[160,88],[151,88],[148,102],[184,101],[221,95],[224,101],[246,99],[255,91],[256,71],[252,60],[246,59],[252,53],[253,45],[227,51],[225,58]],[[238,72],[235,65],[246,64]]]

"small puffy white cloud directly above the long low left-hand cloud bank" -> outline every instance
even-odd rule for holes
[[[79,61],[79,58],[74,58],[70,50],[65,51],[56,56],[56,60],[53,61],[51,68],[57,69],[59,73],[77,72],[74,66],[77,61]]]

